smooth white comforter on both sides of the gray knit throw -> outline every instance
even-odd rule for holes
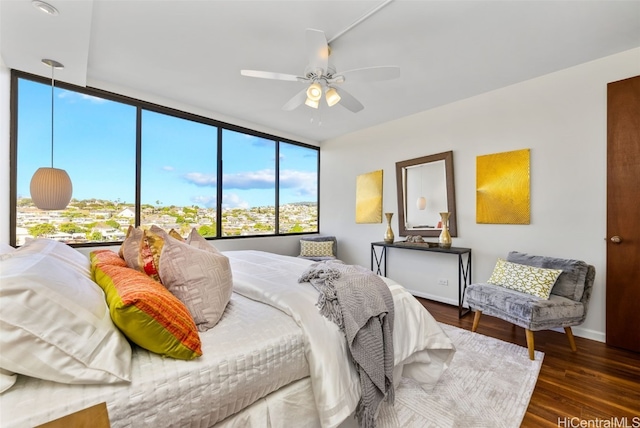
[[[320,422],[323,427],[339,425],[355,410],[360,385],[343,334],[315,307],[318,292],[309,283],[298,283],[313,262],[261,251],[224,254],[231,261],[234,292],[284,311],[301,327]],[[403,375],[429,388],[451,361],[453,343],[404,287],[383,279],[395,305],[394,380]]]

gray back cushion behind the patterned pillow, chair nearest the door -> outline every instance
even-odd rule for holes
[[[533,256],[527,253],[511,251],[507,261],[547,269],[562,269],[551,294],[566,297],[579,302],[584,293],[584,283],[589,265],[581,260],[558,259],[555,257]]]

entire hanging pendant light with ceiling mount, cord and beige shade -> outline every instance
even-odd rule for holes
[[[69,205],[73,186],[69,174],[63,169],[53,167],[53,106],[55,88],[54,70],[64,66],[52,59],[42,62],[51,67],[51,167],[41,167],[31,178],[31,200],[41,210],[62,210]]]

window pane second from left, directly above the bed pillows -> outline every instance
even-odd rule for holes
[[[217,236],[217,135],[215,126],[142,111],[142,225]]]

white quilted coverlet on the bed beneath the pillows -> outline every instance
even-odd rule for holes
[[[134,347],[131,384],[66,385],[18,376],[0,394],[0,426],[33,427],[106,402],[114,428],[209,427],[309,375],[296,323],[240,295],[200,337],[203,355],[191,361]]]

